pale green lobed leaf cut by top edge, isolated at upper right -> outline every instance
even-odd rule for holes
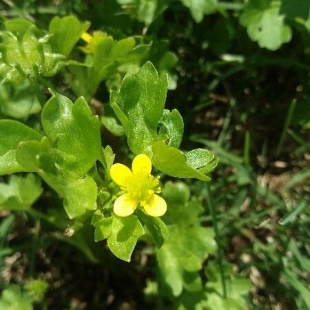
[[[291,28],[285,25],[285,15],[280,14],[281,1],[249,0],[240,16],[241,25],[261,48],[277,50],[291,41]]]

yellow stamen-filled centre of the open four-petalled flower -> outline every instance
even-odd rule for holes
[[[130,185],[127,187],[127,193],[134,200],[138,200],[141,205],[151,199],[155,193],[160,193],[159,177],[151,176],[145,172],[133,172]]]

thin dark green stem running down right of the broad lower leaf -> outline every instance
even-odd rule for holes
[[[216,220],[216,211],[214,208],[210,185],[208,183],[205,183],[205,186],[207,188],[207,205],[209,206],[209,210],[210,210],[210,214],[211,214],[212,222],[213,222],[216,244],[218,245],[218,267],[220,269],[220,280],[222,282],[223,297],[227,298],[226,281],[225,281],[225,274],[224,274],[224,267],[223,267],[224,258],[223,258],[222,247],[220,245],[220,235],[218,234],[218,222]]]

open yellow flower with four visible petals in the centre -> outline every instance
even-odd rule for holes
[[[114,202],[114,213],[118,216],[130,216],[139,206],[149,216],[162,216],[167,210],[163,198],[156,195],[161,192],[159,177],[151,175],[152,163],[145,154],[137,155],[132,161],[132,171],[125,165],[112,165],[110,174],[125,194]]]

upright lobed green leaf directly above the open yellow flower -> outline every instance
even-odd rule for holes
[[[167,76],[158,76],[147,62],[135,75],[125,76],[119,94],[111,92],[110,104],[121,121],[134,154],[152,154],[158,121],[163,114]],[[129,120],[129,121],[127,121]]]

